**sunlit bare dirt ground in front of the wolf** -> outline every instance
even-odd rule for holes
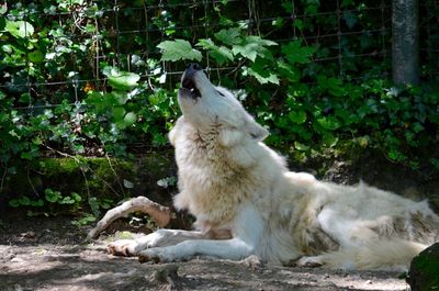
[[[139,264],[85,242],[71,217],[0,216],[0,291],[409,290],[398,273],[346,272],[195,259]]]

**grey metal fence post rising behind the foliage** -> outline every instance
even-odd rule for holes
[[[399,85],[419,82],[418,0],[392,2],[392,71]]]

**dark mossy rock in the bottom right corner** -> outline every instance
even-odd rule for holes
[[[439,243],[426,248],[412,260],[406,281],[412,291],[439,290]]]

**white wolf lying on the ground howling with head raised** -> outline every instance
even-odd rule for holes
[[[439,237],[439,216],[414,202],[360,183],[339,186],[289,171],[267,147],[268,131],[200,66],[185,70],[183,112],[169,138],[176,148],[178,210],[198,231],[159,230],[109,246],[140,260],[194,256],[342,269],[404,270]]]

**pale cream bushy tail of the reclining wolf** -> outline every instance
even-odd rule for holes
[[[412,259],[426,247],[402,239],[375,240],[319,257],[324,267],[333,269],[406,271]]]

